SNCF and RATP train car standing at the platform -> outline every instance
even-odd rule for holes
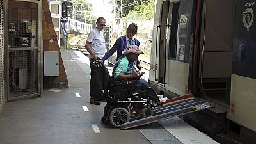
[[[183,118],[220,143],[256,141],[254,10],[248,0],[156,4],[148,81],[169,98],[192,93],[213,102]]]

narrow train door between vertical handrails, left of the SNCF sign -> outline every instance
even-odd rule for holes
[[[166,31],[168,28],[169,1],[163,1],[161,5],[160,24],[157,26],[156,42],[156,73],[155,80],[159,84],[165,84],[166,72]]]

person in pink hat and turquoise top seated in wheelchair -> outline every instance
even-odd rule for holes
[[[163,97],[163,95],[156,95],[154,90],[150,88],[150,85],[145,79],[141,79],[141,72],[140,70],[136,70],[135,61],[138,60],[138,56],[140,54],[144,54],[142,51],[140,51],[139,47],[136,45],[130,45],[124,51],[122,51],[122,56],[118,58],[116,61],[115,67],[113,69],[113,77],[115,81],[121,81],[121,80],[132,80],[132,79],[138,79],[133,80],[131,83],[128,83],[127,89],[129,92],[142,92],[150,90],[150,99],[155,99],[156,104],[163,104],[167,100],[167,97]],[[119,89],[119,88],[118,88]],[[122,88],[119,89],[122,91]],[[121,92],[122,93],[122,92]],[[141,98],[147,98],[148,93],[144,92],[142,93]]]

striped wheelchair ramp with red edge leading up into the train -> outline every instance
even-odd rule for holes
[[[123,124],[121,129],[129,129],[140,125],[150,124],[166,118],[186,115],[206,108],[213,108],[211,102],[196,99],[192,94],[168,99],[164,105],[154,109],[154,115],[143,118],[141,114],[133,115],[132,119]]]

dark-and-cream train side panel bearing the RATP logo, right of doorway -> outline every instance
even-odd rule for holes
[[[236,1],[229,120],[256,132],[256,2]]]

